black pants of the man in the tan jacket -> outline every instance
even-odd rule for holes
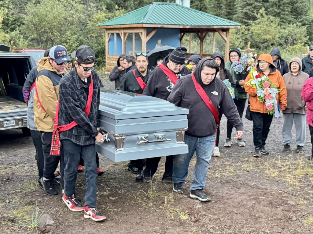
[[[42,151],[44,153],[44,178],[54,179],[54,172],[58,167],[61,156],[50,155],[52,132],[40,131]]]

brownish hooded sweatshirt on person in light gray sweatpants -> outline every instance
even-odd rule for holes
[[[287,107],[283,110],[283,114],[305,114],[305,101],[301,98],[302,87],[309,75],[302,71],[302,62],[300,58],[295,57],[289,62],[289,70],[292,62],[297,62],[300,65],[300,70],[297,75],[292,75],[291,72],[283,76],[287,89]]]

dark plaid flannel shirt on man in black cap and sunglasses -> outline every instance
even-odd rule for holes
[[[95,144],[95,136],[99,133],[97,127],[100,105],[100,80],[95,71],[92,71],[93,95],[90,113],[84,113],[91,83],[90,76],[87,83],[83,83],[76,69],[67,73],[59,85],[59,126],[69,124],[73,120],[78,124],[72,129],[60,132],[60,139],[69,139],[78,145]]]

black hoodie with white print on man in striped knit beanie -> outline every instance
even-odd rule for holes
[[[163,59],[163,64],[166,66],[168,63],[169,56]],[[173,73],[179,79],[182,76],[186,76],[190,74],[191,71],[189,68],[184,66],[182,71],[178,73]],[[156,67],[153,71],[151,71],[149,75],[149,80],[145,90],[143,91],[143,95],[157,97],[166,100],[170,95],[172,89],[174,88],[174,84],[172,81],[165,75],[161,68]]]

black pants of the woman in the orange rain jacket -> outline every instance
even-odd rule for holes
[[[273,115],[251,111],[253,121],[253,143],[255,148],[265,146],[269,127],[271,126]]]

